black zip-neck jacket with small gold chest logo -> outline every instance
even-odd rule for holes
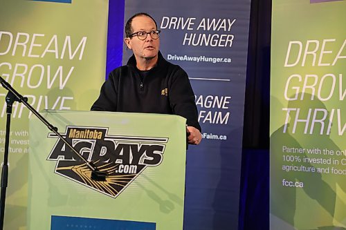
[[[134,55],[126,66],[113,70],[91,110],[181,115],[188,119],[188,126],[201,131],[188,74],[166,61],[161,52],[157,65],[145,73],[143,80]]]

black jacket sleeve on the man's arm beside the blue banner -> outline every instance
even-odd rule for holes
[[[188,119],[188,126],[194,126],[201,131],[194,92],[188,74],[180,67],[177,67],[170,79],[168,95],[173,113],[185,117]]]

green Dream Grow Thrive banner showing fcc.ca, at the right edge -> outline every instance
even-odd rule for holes
[[[273,1],[272,230],[346,229],[345,10]]]

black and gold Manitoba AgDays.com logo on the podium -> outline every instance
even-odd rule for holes
[[[55,173],[116,198],[147,166],[163,160],[168,138],[109,135],[108,128],[66,126],[60,133],[88,162],[107,172],[104,182],[91,180],[91,170],[69,146],[58,139],[47,160],[56,161]],[[48,133],[50,138],[58,138]]]

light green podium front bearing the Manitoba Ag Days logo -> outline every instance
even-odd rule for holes
[[[108,176],[105,182],[91,180],[85,163],[32,117],[28,229],[183,229],[183,117],[96,111],[41,114]]]

